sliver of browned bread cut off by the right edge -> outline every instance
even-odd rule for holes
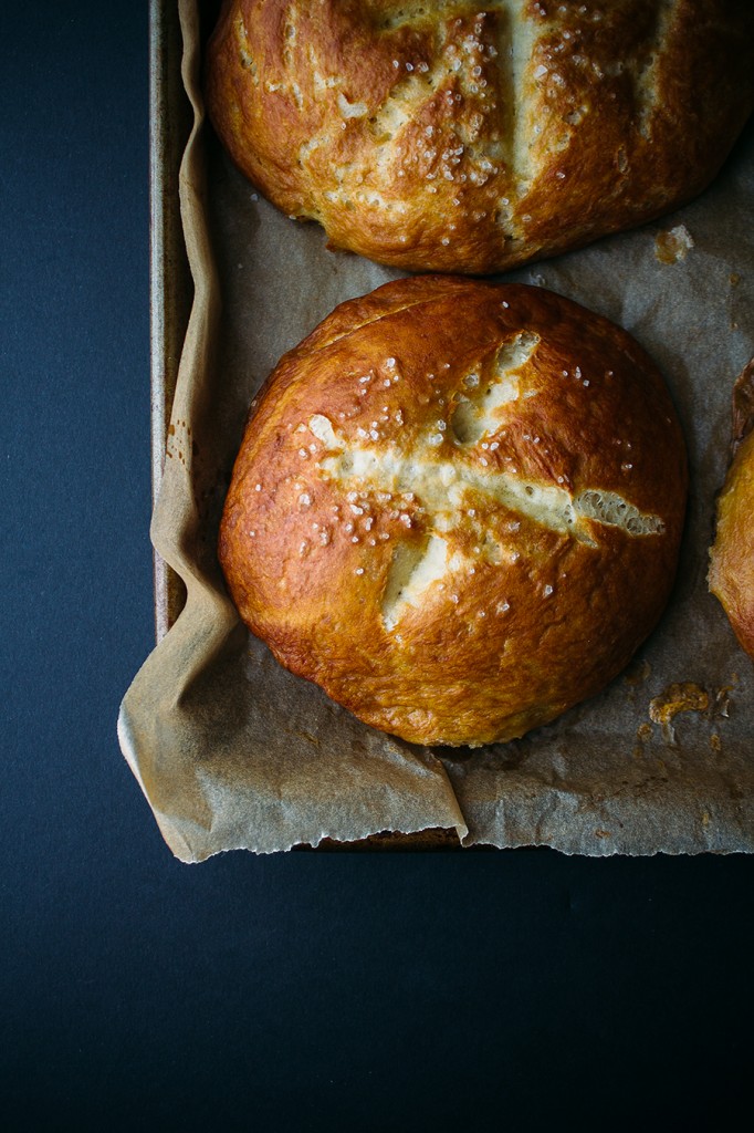
[[[710,590],[754,658],[754,358],[734,390],[735,457],[718,497]]]

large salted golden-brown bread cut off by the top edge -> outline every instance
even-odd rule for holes
[[[704,188],[754,103],[749,0],[226,0],[207,105],[331,244],[487,273]]]

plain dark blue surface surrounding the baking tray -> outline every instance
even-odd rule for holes
[[[145,2],[0,8],[0,1117],[730,1128],[754,859],[181,866],[118,749],[153,642]]]

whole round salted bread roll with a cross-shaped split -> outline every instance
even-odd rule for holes
[[[220,559],[251,630],[363,721],[487,743],[627,663],[685,486],[667,390],[624,331],[535,288],[414,278],[281,359]]]

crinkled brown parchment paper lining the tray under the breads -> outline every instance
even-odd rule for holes
[[[172,851],[198,861],[437,827],[463,845],[594,855],[754,851],[754,667],[706,589],[730,393],[754,355],[752,125],[687,207],[506,276],[620,323],[666,374],[692,488],[662,622],[627,673],[554,724],[475,752],[415,748],[283,671],[225,594],[217,522],[255,390],[336,304],[400,273],[327,252],[317,227],[277,213],[231,167],[203,123],[196,0],[180,8],[196,112],[181,170],[196,298],[152,538],[188,597],[119,717],[123,753]],[[677,261],[658,258],[672,259],[668,247]],[[691,689],[693,710],[674,715],[684,702],[674,684]]]

